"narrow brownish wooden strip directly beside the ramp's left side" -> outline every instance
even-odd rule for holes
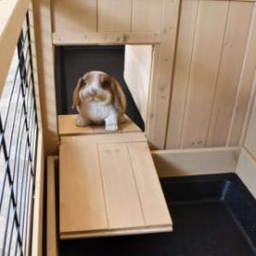
[[[57,256],[57,232],[55,211],[55,160],[57,157],[47,158],[47,241],[46,251],[49,256]]]

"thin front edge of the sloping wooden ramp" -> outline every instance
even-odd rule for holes
[[[131,236],[131,235],[141,235],[141,234],[152,234],[152,233],[162,233],[162,232],[172,232],[172,226],[159,226],[159,227],[148,227],[143,229],[130,229],[130,230],[102,230],[96,232],[81,232],[81,233],[68,233],[61,234],[61,239],[76,239],[76,238],[93,238],[93,237],[104,237],[104,236]]]

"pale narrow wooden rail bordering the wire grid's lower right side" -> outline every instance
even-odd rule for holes
[[[39,130],[32,225],[32,255],[38,256],[43,252],[44,155],[44,137]]]

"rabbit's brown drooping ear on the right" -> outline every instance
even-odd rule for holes
[[[111,90],[113,91],[113,105],[120,113],[125,113],[126,99],[125,94],[116,79],[110,78]]]

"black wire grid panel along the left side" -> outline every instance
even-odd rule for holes
[[[29,15],[0,101],[0,255],[31,253],[38,119]]]

